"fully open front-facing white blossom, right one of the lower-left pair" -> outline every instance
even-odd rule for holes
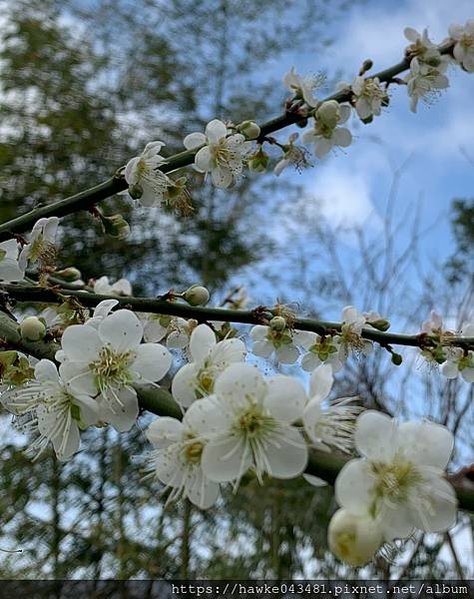
[[[143,326],[130,310],[117,310],[98,327],[71,325],[56,357],[71,393],[97,396],[101,420],[127,431],[138,416],[134,384],[155,383],[171,366],[162,345],[140,343]]]

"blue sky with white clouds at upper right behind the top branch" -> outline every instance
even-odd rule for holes
[[[325,70],[351,80],[362,61],[371,58],[374,69],[398,62],[407,45],[403,30],[428,27],[433,41],[447,35],[451,23],[474,17],[472,0],[368,1],[354,5],[330,25],[334,43],[317,56],[288,55],[279,61],[284,71],[295,65],[301,73]],[[461,148],[473,157],[474,76],[451,69],[451,87],[431,106],[409,109],[406,90],[394,86],[391,104],[371,125],[354,118],[355,142],[316,168],[304,173],[306,189],[322,199],[323,212],[334,222],[380,224],[394,168],[409,160],[401,180],[399,210],[423,203],[423,222],[439,221],[425,240],[426,259],[444,260],[452,250],[449,207],[453,197],[473,194],[474,166]],[[289,174],[287,176],[294,176]]]

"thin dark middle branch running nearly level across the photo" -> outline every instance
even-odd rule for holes
[[[12,298],[20,302],[60,304],[67,297],[74,297],[86,307],[94,307],[105,299],[115,299],[119,305],[136,312],[152,314],[166,314],[194,318],[199,322],[219,321],[242,324],[265,323],[265,314],[272,314],[271,308],[260,306],[254,310],[230,310],[226,308],[201,308],[189,306],[179,302],[169,302],[161,299],[144,297],[120,297],[115,295],[98,295],[81,290],[72,289],[47,289],[44,287],[28,286],[15,283],[2,283],[0,289],[7,292]],[[334,334],[341,330],[342,323],[309,318],[295,318],[294,328],[301,331],[313,331],[320,335]],[[389,345],[404,345],[410,347],[430,347],[434,341],[425,334],[404,335],[388,333],[372,328],[364,328],[361,333],[364,339],[369,339],[386,347]],[[474,337],[449,337],[449,344],[465,349],[474,349]]]

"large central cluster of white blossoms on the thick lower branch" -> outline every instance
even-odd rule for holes
[[[292,377],[265,378],[245,354],[240,339],[217,341],[207,325],[191,334],[190,362],[171,387],[183,419],[158,418],[147,432],[155,446],[151,469],[172,499],[207,508],[220,484],[237,488],[249,470],[260,482],[294,478],[304,472],[310,447],[351,451],[360,408],[347,398],[326,402],[330,366],[315,370],[308,394]]]

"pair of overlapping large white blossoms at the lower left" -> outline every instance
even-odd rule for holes
[[[51,442],[64,460],[79,448],[79,430],[111,424],[129,430],[138,418],[135,385],[155,384],[168,372],[171,354],[157,343],[142,343],[143,325],[129,310],[101,302],[85,324],[64,331],[56,353],[59,368],[40,360],[34,379],[2,394],[4,406],[37,434],[32,450]]]

